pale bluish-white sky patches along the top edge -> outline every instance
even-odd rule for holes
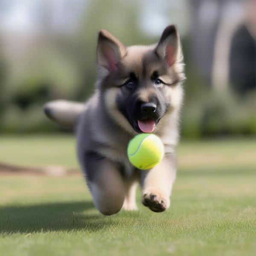
[[[89,1],[0,0],[0,29],[6,32],[36,33],[41,29],[40,19],[46,16],[50,29],[69,32],[77,26]],[[189,20],[187,0],[141,0],[135,3],[142,10],[138,26],[145,34],[159,36],[171,23],[178,23],[181,34],[186,33]],[[166,12],[166,8],[169,8],[169,12]]]

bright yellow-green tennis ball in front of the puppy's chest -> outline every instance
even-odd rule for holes
[[[127,154],[135,167],[148,170],[163,159],[164,147],[159,137],[154,134],[143,133],[130,140]]]

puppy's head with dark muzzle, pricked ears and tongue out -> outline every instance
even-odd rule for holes
[[[111,117],[131,134],[157,131],[180,108],[183,55],[175,25],[155,45],[125,47],[106,30],[99,32],[97,88]]]

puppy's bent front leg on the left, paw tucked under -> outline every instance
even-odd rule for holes
[[[96,208],[104,215],[119,212],[125,199],[125,185],[117,164],[94,152],[86,154],[84,163]]]

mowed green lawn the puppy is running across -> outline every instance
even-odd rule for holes
[[[255,255],[256,138],[184,141],[177,154],[163,213],[138,191],[138,212],[103,216],[82,175],[0,175],[0,255]],[[2,136],[0,162],[78,167],[67,135]]]

